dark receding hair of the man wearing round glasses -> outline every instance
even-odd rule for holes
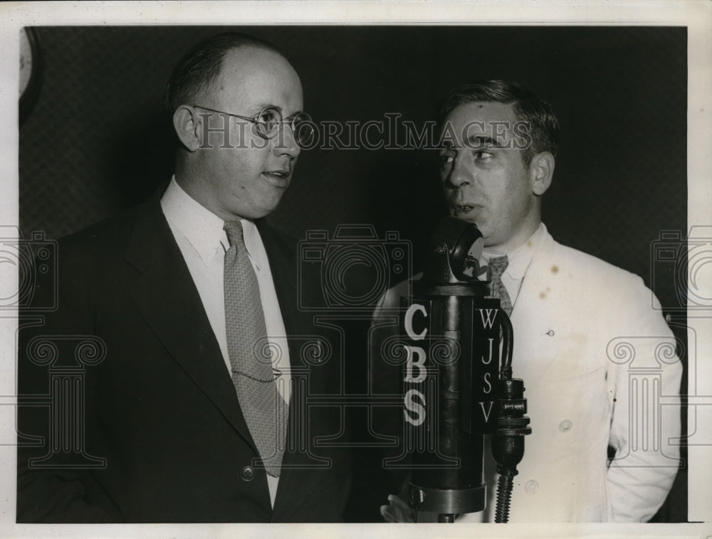
[[[269,41],[246,33],[226,32],[207,38],[185,53],[173,68],[163,90],[165,110],[173,114],[181,105],[196,102],[220,75],[225,55],[243,47],[271,50],[282,55]]]

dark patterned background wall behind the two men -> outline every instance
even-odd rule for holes
[[[225,27],[42,27],[43,87],[20,128],[20,225],[59,238],[127,208],[172,173],[160,94],[172,65]],[[455,85],[515,80],[562,124],[544,220],[554,237],[652,275],[661,230],[686,230],[686,28],[258,26],[300,74],[315,120],[434,117]],[[314,149],[271,222],[298,238],[340,223],[398,230],[418,247],[444,213],[431,150]],[[416,265],[419,259],[416,257]],[[593,291],[595,292],[595,291]],[[612,306],[614,308],[614,306]],[[684,338],[684,333],[679,333]],[[666,520],[684,520],[684,474]]]

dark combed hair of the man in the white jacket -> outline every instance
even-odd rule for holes
[[[498,102],[513,105],[514,114],[519,122],[526,122],[532,144],[523,151],[524,164],[529,166],[535,154],[550,151],[556,155],[559,142],[559,120],[551,105],[540,100],[529,90],[504,80],[481,80],[452,90],[444,99],[438,118],[443,122],[452,110],[459,105],[472,102]]]

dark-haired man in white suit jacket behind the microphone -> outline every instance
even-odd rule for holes
[[[682,368],[657,300],[642,279],[560,245],[541,222],[559,130],[547,103],[479,82],[449,95],[440,120],[449,209],[483,234],[481,264],[507,257],[500,299],[533,429],[510,521],[648,521],[679,464]],[[401,293],[389,291],[382,309]],[[488,508],[458,522],[493,520],[493,469],[486,463]],[[412,518],[399,498],[382,514]]]

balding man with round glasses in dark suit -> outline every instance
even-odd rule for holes
[[[303,363],[323,338],[294,242],[262,219],[308,142],[299,77],[270,43],[221,34],[165,102],[169,185],[61,240],[58,308],[20,332],[21,401],[53,402],[19,411],[17,521],[339,521],[345,459],[313,447],[339,426],[304,405],[337,358]]]

